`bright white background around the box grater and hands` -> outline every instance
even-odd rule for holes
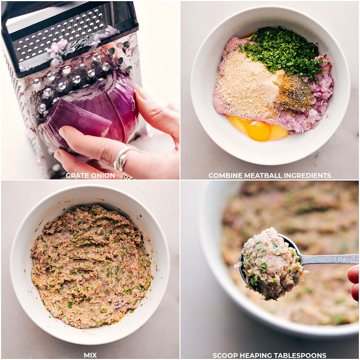
[[[179,110],[180,3],[134,1],[134,6],[139,22],[137,35],[143,87],[157,103]],[[166,31],[162,31],[164,28]],[[166,52],[159,53],[154,41],[166,44]],[[25,125],[3,56],[0,63],[1,179],[42,179],[25,134]],[[157,130],[153,138],[143,135],[133,145],[150,153],[168,153],[174,149],[171,136]]]

